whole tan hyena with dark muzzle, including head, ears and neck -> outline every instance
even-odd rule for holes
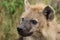
[[[25,11],[17,27],[20,40],[56,40],[54,9],[42,3],[30,5],[28,0],[24,3]]]

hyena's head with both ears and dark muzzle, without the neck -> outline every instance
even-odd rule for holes
[[[42,33],[47,27],[48,21],[53,21],[54,10],[44,4],[30,5],[25,0],[25,12],[21,16],[20,25],[17,27],[21,36],[32,36],[34,33]]]

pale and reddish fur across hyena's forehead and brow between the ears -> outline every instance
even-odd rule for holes
[[[42,3],[41,3],[41,4],[36,4],[36,5],[30,5],[28,11],[23,12],[21,18],[24,18],[24,17],[26,17],[27,15],[32,14],[32,13],[33,13],[33,14],[36,14],[36,12],[42,12],[43,9],[44,9],[46,6],[47,6],[47,5],[42,4]],[[31,13],[31,12],[32,12],[32,13]]]

